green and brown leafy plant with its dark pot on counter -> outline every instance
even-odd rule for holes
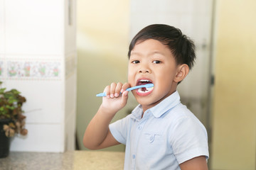
[[[6,91],[0,81],[0,158],[9,155],[11,137],[17,134],[26,135],[25,118],[22,105],[26,98],[16,89]]]

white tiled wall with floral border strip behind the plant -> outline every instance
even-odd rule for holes
[[[74,149],[76,52],[69,1],[75,22],[75,0],[0,0],[0,79],[27,99],[23,110],[28,135],[14,137],[11,150]],[[68,84],[69,79],[73,81]],[[70,89],[69,99],[65,91]],[[73,104],[67,110],[65,103]]]

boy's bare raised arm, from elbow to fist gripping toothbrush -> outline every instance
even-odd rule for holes
[[[112,83],[105,87],[104,92],[107,96],[102,97],[99,110],[85,130],[82,140],[85,147],[88,149],[102,149],[119,144],[112,136],[109,125],[117,111],[127,104],[128,91],[125,90],[129,87],[130,85],[127,83]]]

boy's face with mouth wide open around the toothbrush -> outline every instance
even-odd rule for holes
[[[177,72],[178,66],[171,50],[158,40],[149,39],[134,46],[129,58],[129,84],[154,84],[154,88],[132,91],[143,111],[156,106],[176,91],[177,82],[174,78]]]

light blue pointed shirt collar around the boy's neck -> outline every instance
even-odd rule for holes
[[[180,96],[178,94],[178,91],[175,91],[174,94],[171,94],[167,98],[164,98],[163,101],[161,101],[159,104],[156,106],[149,108],[146,112],[151,112],[155,118],[160,118],[161,115],[169,111],[171,108],[174,108],[177,106],[180,101]],[[141,120],[142,118],[142,105],[138,105],[134,110],[132,111],[132,118],[135,120]]]

